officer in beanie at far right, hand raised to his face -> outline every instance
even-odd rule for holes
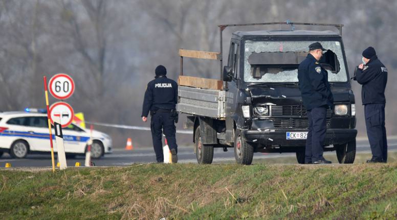
[[[386,163],[388,144],[385,128],[385,88],[388,81],[388,69],[378,59],[372,46],[366,48],[362,55],[363,63],[355,72],[354,80],[362,85],[361,99],[372,151],[372,158],[367,163]]]

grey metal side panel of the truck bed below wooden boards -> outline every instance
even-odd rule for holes
[[[179,86],[177,110],[191,115],[225,118],[225,91]]]

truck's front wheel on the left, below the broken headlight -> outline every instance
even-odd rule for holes
[[[250,165],[254,157],[254,146],[245,140],[244,134],[236,129],[234,157],[238,164]]]

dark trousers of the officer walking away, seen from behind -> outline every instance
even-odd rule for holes
[[[175,138],[176,127],[171,112],[156,112],[151,116],[150,130],[152,132],[153,148],[157,162],[164,162],[162,134],[167,138],[168,147],[178,152]]]

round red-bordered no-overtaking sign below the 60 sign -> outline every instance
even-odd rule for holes
[[[56,102],[50,107],[50,120],[54,125],[53,117],[58,116],[61,118],[62,128],[66,128],[71,124],[74,117],[73,108],[66,102]]]

